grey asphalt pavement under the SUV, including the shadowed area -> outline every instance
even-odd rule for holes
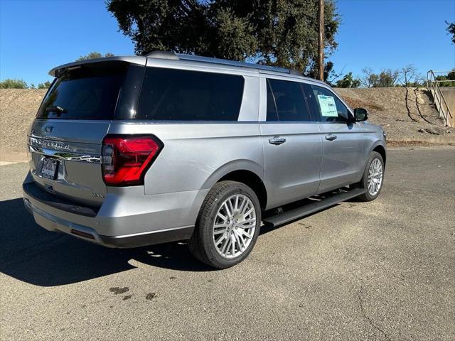
[[[394,148],[374,202],[277,229],[213,271],[186,244],[36,225],[0,167],[0,340],[455,340],[455,148]]]

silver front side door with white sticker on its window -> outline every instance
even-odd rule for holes
[[[326,87],[306,85],[316,112],[323,143],[321,185],[318,193],[360,180],[363,136],[360,124],[349,119],[349,109]]]

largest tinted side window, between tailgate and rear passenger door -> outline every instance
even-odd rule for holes
[[[147,67],[136,119],[237,121],[244,82],[238,75]]]

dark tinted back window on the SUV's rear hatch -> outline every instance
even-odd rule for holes
[[[84,65],[53,83],[38,119],[112,119],[128,66]]]

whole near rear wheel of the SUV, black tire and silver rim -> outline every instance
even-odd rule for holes
[[[221,181],[205,197],[188,247],[203,263],[226,269],[247,258],[260,225],[261,208],[255,192],[243,183]]]

